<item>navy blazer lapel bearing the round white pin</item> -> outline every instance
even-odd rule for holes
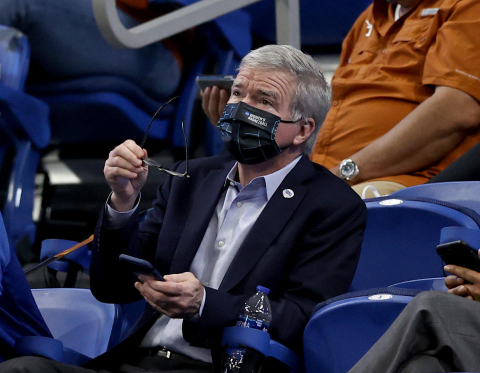
[[[235,286],[260,259],[303,199],[307,188],[302,183],[312,172],[313,166],[304,155],[285,176],[238,249],[221,281],[221,290]],[[293,190],[293,197],[283,196],[287,188]]]

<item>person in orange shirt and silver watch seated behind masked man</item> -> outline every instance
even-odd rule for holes
[[[311,159],[359,194],[428,181],[480,140],[479,34],[476,0],[373,0],[343,41]],[[221,94],[203,94],[212,121]]]

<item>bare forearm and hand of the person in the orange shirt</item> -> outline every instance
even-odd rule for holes
[[[431,97],[383,136],[352,154],[359,173],[347,181],[411,172],[447,155],[480,123],[480,104],[469,94],[437,86]],[[330,169],[339,176],[338,166]]]

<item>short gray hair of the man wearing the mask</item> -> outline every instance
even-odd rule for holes
[[[261,70],[279,70],[291,73],[297,79],[297,88],[291,97],[292,117],[315,120],[315,129],[304,142],[303,152],[310,154],[326,112],[330,107],[331,89],[313,58],[291,45],[264,45],[250,50],[241,60],[242,67]]]

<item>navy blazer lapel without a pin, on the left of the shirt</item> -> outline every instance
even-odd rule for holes
[[[171,273],[188,271],[223,191],[225,177],[233,163],[227,162],[223,167],[210,170],[196,191],[185,228],[173,255]]]

